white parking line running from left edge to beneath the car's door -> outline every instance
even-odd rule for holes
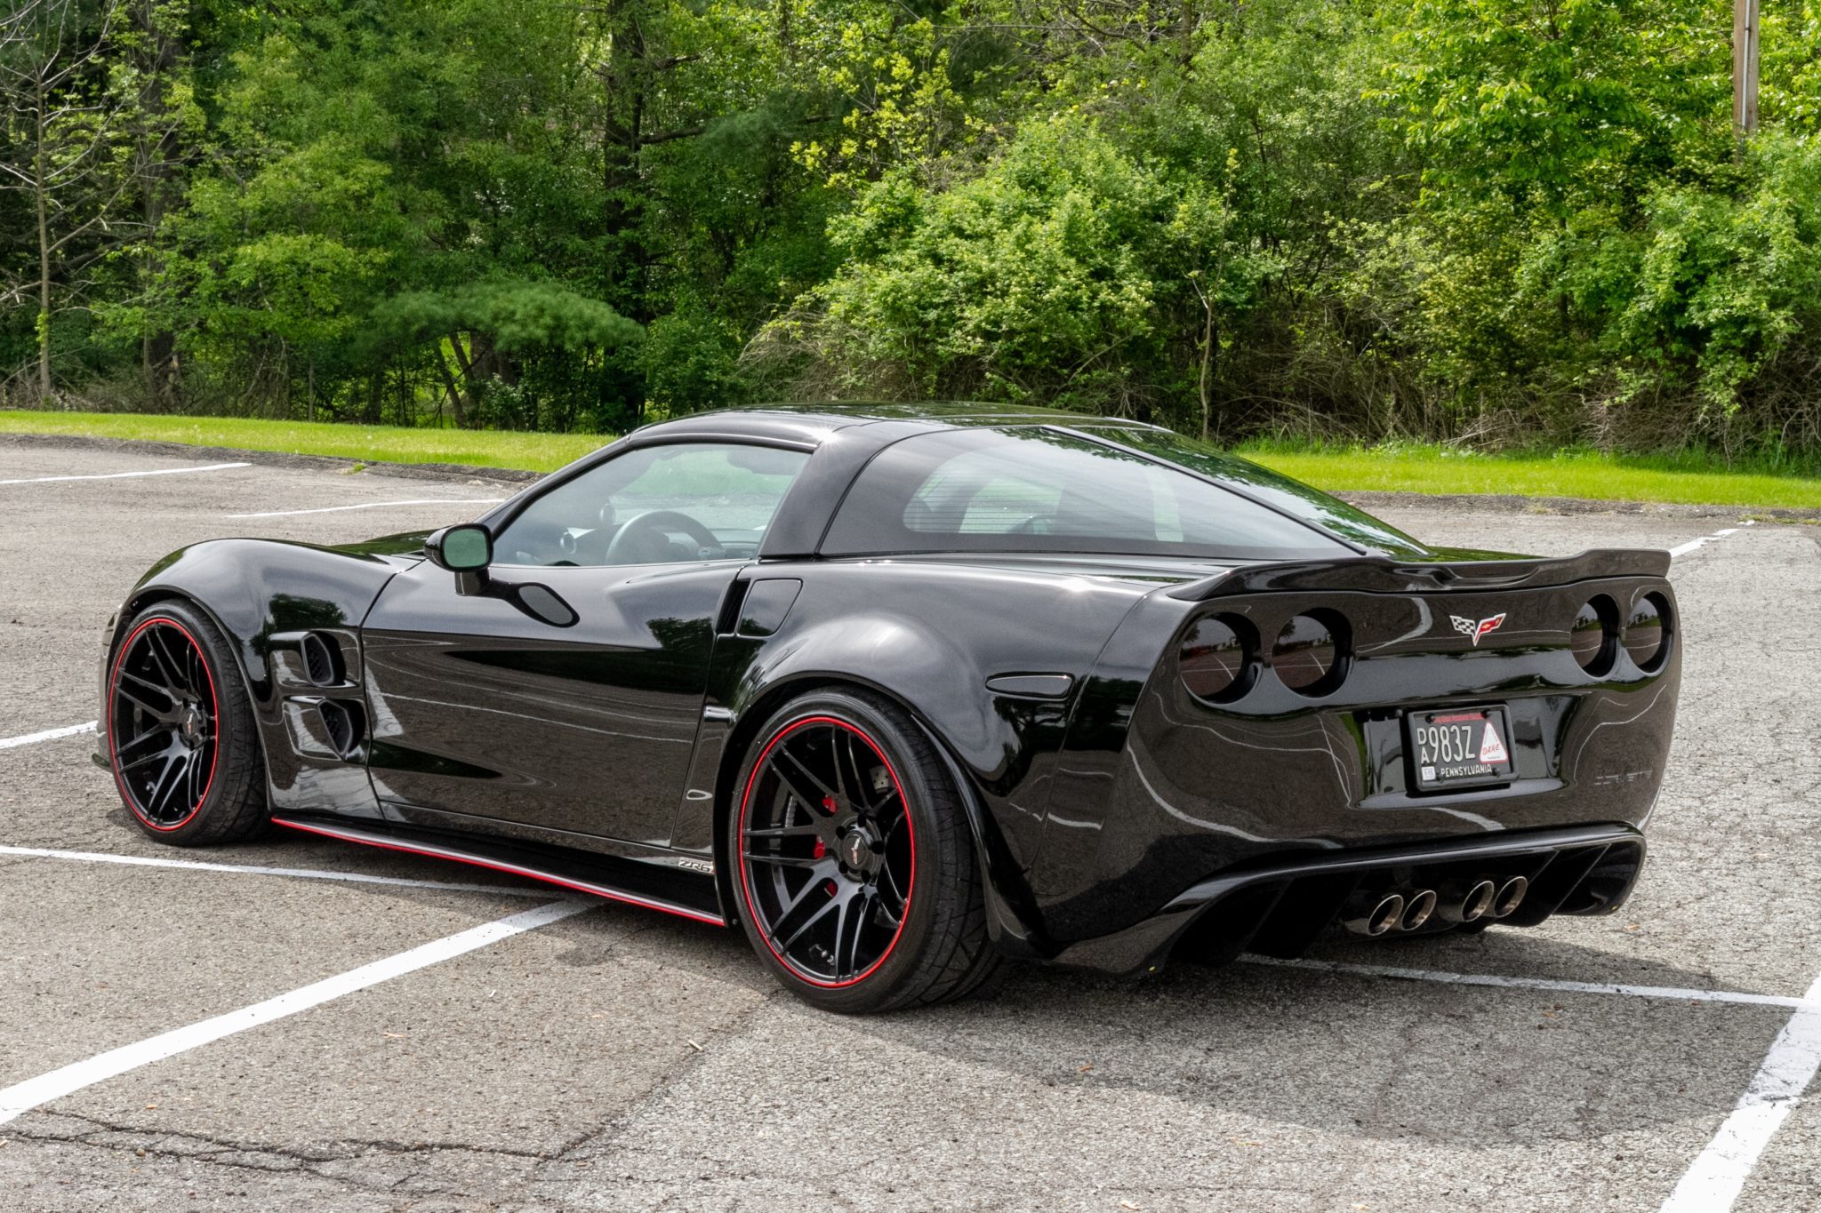
[[[117,1078],[131,1069],[138,1069],[140,1066],[149,1066],[168,1057],[188,1053],[189,1049],[246,1031],[248,1028],[259,1028],[260,1024],[270,1024],[288,1015],[308,1011],[310,1007],[342,998],[359,989],[366,989],[368,986],[379,986],[381,982],[390,982],[395,977],[415,973],[417,969],[461,957],[475,951],[477,947],[486,947],[497,940],[523,935],[524,931],[535,931],[537,927],[561,922],[563,918],[572,918],[586,909],[594,909],[601,902],[595,900],[583,902],[574,898],[550,902],[548,906],[526,909],[512,915],[510,918],[499,918],[457,935],[448,935],[430,944],[421,944],[419,947],[401,951],[399,955],[386,957],[384,960],[362,964],[359,969],[350,969],[348,973],[339,973],[320,982],[300,986],[290,993],[279,995],[277,998],[266,998],[264,1002],[255,1002],[253,1006],[240,1007],[239,1011],[228,1011],[226,1015],[217,1015],[213,1018],[189,1024],[188,1028],[158,1033],[148,1040],[109,1049],[107,1053],[98,1053],[97,1057],[64,1066],[62,1069],[53,1069],[47,1075],[27,1078],[25,1082],[0,1089],[0,1124],[16,1120],[40,1104],[62,1098],[80,1091],[82,1088],[95,1086],[97,1082]]]

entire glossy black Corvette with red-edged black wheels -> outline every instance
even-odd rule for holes
[[[838,1011],[1537,926],[1637,880],[1659,551],[1428,547],[1164,429],[641,429],[435,535],[215,540],[109,622],[155,838],[268,822],[701,922]]]

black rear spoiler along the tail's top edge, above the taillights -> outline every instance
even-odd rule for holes
[[[1597,547],[1579,556],[1501,556],[1462,553],[1464,560],[1389,560],[1346,556],[1340,560],[1284,560],[1226,569],[1167,591],[1171,598],[1206,602],[1231,595],[1277,589],[1344,589],[1368,595],[1479,593],[1488,589],[1539,589],[1604,576],[1655,576],[1670,573],[1670,553],[1653,547]]]

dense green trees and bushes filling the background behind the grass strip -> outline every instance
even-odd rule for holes
[[[1821,451],[1821,11],[15,0],[0,402]],[[40,224],[40,215],[44,222]]]

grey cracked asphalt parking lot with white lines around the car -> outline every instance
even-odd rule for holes
[[[1821,527],[1380,507],[1677,549],[1683,707],[1617,917],[836,1018],[738,931],[158,846],[64,733],[168,551],[514,487],[0,440],[0,1208],[1821,1213]]]

